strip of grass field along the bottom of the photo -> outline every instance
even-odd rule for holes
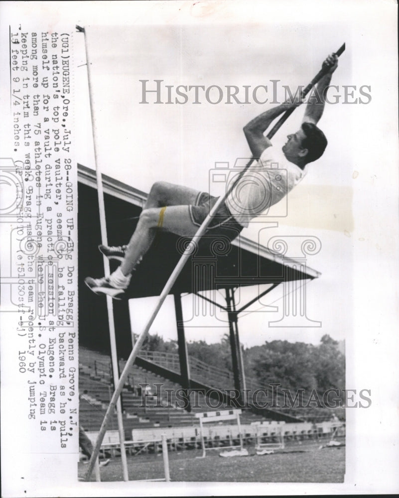
[[[319,450],[319,446],[286,448],[259,456],[253,448],[248,457],[222,458],[210,451],[196,458],[200,450],[169,452],[170,479],[174,482],[255,482],[255,483],[342,483],[345,474],[345,447]],[[128,457],[129,479],[159,479],[164,476],[162,455]],[[80,463],[79,478],[87,465]],[[94,481],[94,473],[92,476]],[[101,468],[102,481],[122,481],[121,459],[114,458]]]

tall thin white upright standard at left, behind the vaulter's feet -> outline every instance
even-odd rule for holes
[[[94,145],[94,162],[96,166],[96,177],[97,177],[97,193],[98,193],[98,205],[100,212],[100,228],[101,228],[101,243],[104,246],[108,245],[107,240],[107,224],[105,219],[105,206],[104,206],[104,191],[103,191],[103,182],[101,177],[101,169],[98,165],[97,160],[97,140],[96,140],[96,120],[94,117],[94,108],[93,108],[93,97],[92,97],[92,86],[91,86],[91,76],[90,76],[90,58],[89,58],[89,50],[87,48],[87,33],[85,28],[81,28],[76,26],[79,31],[83,31],[85,36],[85,50],[86,50],[86,63],[87,63],[87,80],[89,84],[89,99],[90,99],[90,114],[92,119],[92,130],[93,130],[93,145]],[[104,260],[104,274],[108,276],[110,274],[110,262],[106,256],[103,256]],[[115,339],[115,324],[114,324],[114,308],[112,305],[112,298],[107,296],[107,310],[108,310],[108,324],[110,328],[110,342],[111,342],[111,360],[112,360],[112,371],[114,375],[114,383],[118,384],[119,381],[119,373],[118,373],[118,355],[117,355],[117,343]],[[121,444],[121,459],[122,459],[122,467],[123,467],[123,477],[124,481],[129,481],[128,475],[128,462],[126,458],[125,451],[125,431],[123,426],[123,418],[122,418],[122,404],[121,398],[118,398],[117,401],[117,418],[118,418],[118,429],[119,429],[119,439]]]

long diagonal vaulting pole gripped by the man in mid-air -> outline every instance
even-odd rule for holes
[[[338,50],[338,52],[336,52],[337,55],[341,55],[342,52],[345,50],[345,43],[342,45],[342,47],[340,47],[340,49]],[[313,85],[315,85],[329,70],[329,67],[326,66],[326,67],[323,67],[318,73],[317,75],[313,78],[313,80],[311,81],[311,83],[309,83],[309,85],[302,91],[302,97],[304,97],[309,91],[310,89],[312,88]],[[305,93],[306,92],[306,93]],[[281,126],[281,124],[284,123],[284,121],[288,118],[288,116],[293,112],[293,110],[289,110],[289,111],[286,111],[284,113],[284,115],[280,118],[280,120],[273,126],[273,128],[269,131],[269,133],[267,133],[267,138],[271,138],[274,133],[277,131],[277,129]],[[287,115],[287,113],[289,113]],[[287,115],[287,116],[286,116]],[[285,119],[284,119],[284,116]],[[89,462],[89,465],[88,465],[88,469],[87,469],[87,472],[86,472],[86,475],[85,475],[85,480],[88,481],[90,479],[90,476],[93,472],[93,468],[94,468],[94,464],[95,464],[95,461],[96,461],[96,458],[97,458],[97,455],[100,451],[100,448],[101,448],[101,443],[103,442],[103,439],[104,439],[104,436],[105,436],[105,432],[107,430],[107,425],[112,417],[112,411],[119,399],[119,396],[121,395],[121,392],[122,392],[122,389],[123,389],[123,386],[124,386],[124,383],[125,381],[127,380],[128,378],[128,374],[129,374],[129,370],[131,369],[131,367],[133,366],[133,363],[141,349],[141,346],[145,340],[145,338],[147,337],[147,334],[148,334],[148,331],[149,329],[151,328],[151,325],[152,325],[152,322],[155,320],[155,317],[158,313],[158,311],[160,310],[162,304],[163,304],[163,301],[166,299],[166,296],[170,293],[170,290],[171,288],[173,287],[173,284],[175,283],[177,277],[179,276],[181,270],[183,269],[184,265],[186,264],[187,260],[190,258],[192,252],[194,251],[195,247],[198,245],[199,243],[199,240],[201,239],[201,237],[204,235],[204,233],[206,232],[206,229],[208,228],[212,218],[214,217],[214,215],[216,214],[216,212],[218,211],[218,209],[220,208],[220,206],[225,202],[226,198],[230,195],[230,193],[232,192],[232,190],[234,189],[234,187],[236,186],[237,182],[240,180],[240,178],[245,174],[245,172],[247,171],[247,169],[251,166],[251,164],[255,161],[255,158],[253,157],[248,163],[247,165],[245,166],[245,168],[240,172],[239,175],[237,175],[237,178],[236,178],[236,181],[234,182],[234,184],[228,189],[228,191],[225,193],[225,195],[219,197],[219,199],[217,200],[216,204],[213,206],[213,208],[211,209],[210,213],[208,214],[208,216],[205,218],[204,222],[202,223],[202,225],[200,226],[200,228],[198,229],[197,233],[194,235],[194,237],[192,238],[192,240],[190,241],[190,243],[188,244],[187,246],[187,249],[184,251],[183,255],[180,257],[176,267],[174,268],[172,274],[170,275],[168,281],[166,282],[166,285],[165,287],[163,288],[160,296],[159,296],[159,299],[158,299],[158,302],[154,308],[154,310],[152,311],[149,319],[148,319],[148,322],[146,324],[146,326],[144,327],[144,330],[141,332],[141,334],[139,335],[136,343],[134,344],[134,347],[133,347],[133,350],[132,350],[132,353],[130,354],[129,358],[128,358],[128,361],[126,362],[126,365],[125,365],[125,368],[121,374],[121,377],[119,379],[119,382],[115,388],[115,392],[112,396],[112,399],[111,399],[111,402],[110,402],[110,405],[108,406],[108,409],[107,409],[107,412],[105,414],[105,417],[104,417],[104,420],[103,420],[103,423],[101,425],[101,428],[100,428],[100,431],[99,431],[99,434],[98,434],[98,437],[97,437],[97,440],[96,440],[96,444],[93,448],[93,453],[92,453],[92,457],[90,459],[90,462]]]

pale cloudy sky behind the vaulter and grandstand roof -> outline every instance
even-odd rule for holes
[[[156,88],[154,80],[163,80],[163,102],[167,100],[166,85],[171,87],[172,101],[178,85],[204,85],[205,88],[218,85],[223,89],[226,85],[235,85],[241,92],[245,85],[251,88],[267,85],[267,96],[271,100],[271,80],[279,80],[276,98],[282,101],[282,85],[288,85],[292,91],[298,85],[306,85],[319,71],[324,58],[346,40],[347,34],[342,24],[338,29],[332,24],[293,23],[270,23],[267,28],[265,24],[211,24],[86,29],[98,167],[103,173],[144,192],[157,180],[208,191],[209,170],[215,163],[228,162],[232,166],[237,158],[250,157],[243,125],[272,106],[257,104],[252,99],[249,105],[228,105],[225,99],[219,104],[210,104],[202,94],[198,99],[201,104],[197,105],[192,103],[193,97],[184,105],[155,104],[155,95],[150,93],[145,97],[148,104],[143,104],[140,103],[143,101],[140,80],[147,80],[147,89]],[[84,35],[75,34],[74,43],[78,54],[76,65],[80,66],[75,76],[79,102],[76,116],[81,129],[77,137],[77,160],[94,169]],[[366,84],[351,77],[350,51],[341,56],[332,84],[340,88],[330,89],[331,102],[337,93],[343,100],[342,85],[358,88]],[[265,94],[262,89],[259,92],[260,100]],[[209,96],[209,100],[217,101],[217,94]],[[359,96],[356,91],[355,97]],[[240,98],[240,102],[244,102],[244,97]],[[321,250],[308,256],[307,264],[322,275],[306,283],[306,299],[308,317],[321,322],[321,327],[270,326],[269,322],[278,320],[282,313],[280,285],[240,318],[240,340],[245,347],[273,339],[317,344],[324,334],[343,340],[351,329],[351,255],[353,244],[362,239],[361,234],[354,231],[352,214],[356,171],[348,145],[351,107],[326,105],[319,125],[329,145],[322,159],[309,165],[304,180],[289,194],[287,216],[268,218],[278,222],[278,227],[266,229],[262,223],[251,223],[242,232],[244,237],[265,246],[275,236],[310,236],[320,241]],[[303,110],[296,110],[280,128],[273,138],[275,146],[281,146],[286,134],[300,126]],[[222,191],[212,185],[211,193],[220,195]],[[279,213],[278,205],[274,209],[275,214]],[[287,255],[302,256],[294,246],[289,247]],[[256,287],[242,289],[237,298],[249,301],[257,290]],[[187,340],[218,342],[228,331],[226,322],[211,317],[190,320],[191,303],[191,296],[183,297]],[[264,305],[271,303],[277,308],[266,312]],[[142,303],[136,306],[131,305],[132,326],[140,330],[145,317]],[[151,306],[148,305],[148,314]],[[175,339],[173,305],[165,303],[163,308],[151,332],[165,339]],[[140,313],[133,309],[139,309]]]

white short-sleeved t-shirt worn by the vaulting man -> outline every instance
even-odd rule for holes
[[[233,172],[230,176],[230,184],[238,173]],[[289,162],[281,149],[266,147],[260,159],[252,163],[228,195],[226,204],[240,225],[248,227],[252,218],[285,197],[306,173],[306,166],[302,170]]]

